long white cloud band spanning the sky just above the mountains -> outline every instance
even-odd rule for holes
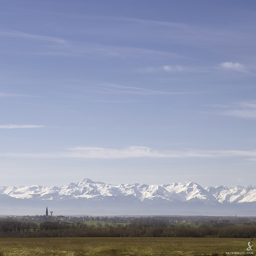
[[[100,147],[73,147],[68,151],[51,153],[1,153],[0,157],[7,158],[92,158],[92,159],[121,159],[121,158],[224,158],[245,157],[254,160],[256,150],[173,150],[160,151],[149,147],[128,147],[122,149]]]

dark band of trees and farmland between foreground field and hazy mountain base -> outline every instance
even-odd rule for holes
[[[175,221],[172,217],[104,218],[97,220],[68,217],[24,217],[0,219],[0,238],[50,237],[256,237],[256,221],[250,219],[204,219]],[[171,218],[171,219],[170,219]],[[85,219],[85,220],[84,220]],[[169,220],[168,220],[169,219]],[[191,221],[192,219],[192,221]],[[125,222],[126,221],[126,222]]]

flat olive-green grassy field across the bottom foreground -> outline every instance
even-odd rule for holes
[[[249,241],[192,237],[1,238],[0,252],[3,256],[217,256],[247,253]],[[254,241],[250,241],[252,244]],[[256,242],[251,254],[256,254],[254,247]]]

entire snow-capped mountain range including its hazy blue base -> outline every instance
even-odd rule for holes
[[[58,214],[204,214],[256,213],[256,186],[206,187],[194,182],[162,185],[111,185],[83,179],[61,187],[0,187],[0,215]],[[2,211],[2,213],[1,213]],[[13,212],[12,212],[13,211]],[[38,212],[40,211],[40,212]],[[215,214],[216,213],[216,214]],[[247,213],[247,214],[245,214]]]

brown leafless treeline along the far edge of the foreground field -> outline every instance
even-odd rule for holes
[[[30,223],[0,221],[0,237],[256,237],[256,224],[235,225],[230,223],[201,224],[197,227],[161,223],[147,225],[131,223],[110,226],[84,223]]]

